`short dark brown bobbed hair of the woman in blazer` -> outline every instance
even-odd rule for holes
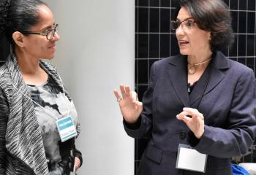
[[[222,0],[181,0],[175,14],[184,7],[197,22],[197,26],[211,32],[211,51],[225,50],[233,44],[235,36],[228,7]]]

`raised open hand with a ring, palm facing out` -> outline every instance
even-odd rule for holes
[[[130,91],[129,86],[120,85],[121,96],[115,89],[114,94],[119,103],[121,114],[127,123],[135,123],[142,112],[142,103],[138,101],[137,93]]]

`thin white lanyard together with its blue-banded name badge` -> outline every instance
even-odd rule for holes
[[[61,81],[61,88],[63,90],[63,95],[67,98],[67,96],[65,95],[64,85],[62,83],[61,77],[59,77],[59,79]],[[12,86],[16,90],[18,90],[18,92],[23,94],[23,96],[26,96],[26,98],[29,98],[29,100],[34,102],[34,104],[37,104],[37,106],[42,107],[42,109],[44,109],[45,112],[48,112],[48,114],[50,114],[50,116],[54,116],[56,118],[56,126],[58,128],[59,136],[60,136],[62,142],[67,141],[68,139],[71,139],[75,136],[78,136],[78,133],[77,133],[76,128],[75,128],[74,121],[72,120],[72,117],[69,116],[71,111],[69,111],[69,115],[67,117],[63,117],[61,119],[58,119],[58,117],[56,115],[54,115],[52,112],[50,112],[50,110],[45,109],[42,105],[38,104],[31,97],[27,96],[25,93],[23,93],[18,88],[16,88],[15,85],[13,84],[13,82],[12,82]],[[71,109],[71,105],[70,105],[70,109]]]

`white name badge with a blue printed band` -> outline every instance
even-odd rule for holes
[[[61,118],[56,121],[56,125],[62,142],[78,136],[72,117],[68,116]]]

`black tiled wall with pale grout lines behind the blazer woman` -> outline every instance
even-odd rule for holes
[[[255,0],[225,0],[225,3],[230,7],[236,41],[223,52],[255,71]],[[135,0],[135,90],[140,100],[148,85],[152,63],[179,52],[176,36],[169,26],[177,4],[178,0]],[[147,140],[135,139],[135,172],[146,144]],[[255,160],[248,156],[244,160]]]

